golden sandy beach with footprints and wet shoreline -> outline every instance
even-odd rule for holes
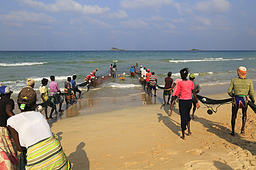
[[[208,97],[229,98],[227,93]],[[170,105],[161,104],[161,90],[145,99],[103,98],[88,107],[84,98],[50,122],[73,169],[256,169],[256,114],[249,107],[246,134],[240,134],[239,110],[233,137],[231,104],[212,115],[201,104],[191,120],[192,135],[182,140],[178,105],[167,116]]]

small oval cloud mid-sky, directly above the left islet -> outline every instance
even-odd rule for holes
[[[137,20],[129,20],[129,21],[121,21],[120,24],[123,28],[131,28],[131,29],[149,29],[149,24],[140,19]]]

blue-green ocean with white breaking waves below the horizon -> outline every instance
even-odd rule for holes
[[[42,78],[55,76],[55,81],[64,92],[68,76],[77,75],[77,84],[83,83],[90,72],[98,68],[96,76],[109,75],[109,66],[116,63],[116,78],[109,78],[102,84],[83,94],[84,98],[111,98],[144,94],[138,78],[129,78],[132,65],[138,63],[154,71],[158,85],[164,85],[167,72],[174,80],[179,71],[188,67],[196,81],[205,85],[229,84],[237,77],[241,65],[248,70],[246,78],[256,81],[256,51],[1,51],[0,83],[8,85],[14,95],[26,86],[26,79],[35,80],[39,90]],[[124,74],[125,73],[125,74]],[[118,78],[125,77],[125,81]],[[86,92],[86,87],[81,88]]]

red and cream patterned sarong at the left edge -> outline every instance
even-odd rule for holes
[[[7,127],[0,127],[0,169],[16,169],[18,164],[15,142]]]

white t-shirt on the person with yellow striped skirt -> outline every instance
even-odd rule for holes
[[[26,111],[8,118],[7,125],[19,134],[21,147],[30,147],[40,140],[53,136],[46,118],[37,111]]]

